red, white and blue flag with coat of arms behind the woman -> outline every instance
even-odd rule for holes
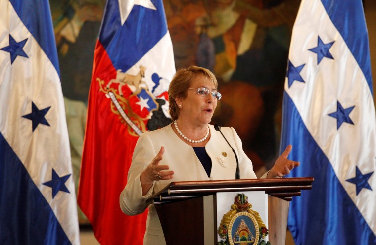
[[[97,240],[143,244],[146,213],[119,196],[138,136],[171,122],[174,56],[162,0],[108,0],[94,52],[78,202]]]

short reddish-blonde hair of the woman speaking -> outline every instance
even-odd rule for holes
[[[197,75],[210,77],[214,83],[214,86],[218,88],[217,78],[211,71],[206,68],[189,66],[188,68],[178,69],[174,77],[172,78],[170,86],[168,88],[168,102],[170,106],[169,112],[172,120],[177,120],[180,113],[180,109],[176,104],[175,98],[186,98],[186,91],[191,86],[193,79]]]

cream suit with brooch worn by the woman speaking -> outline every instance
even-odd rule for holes
[[[221,133],[214,129],[213,125],[209,125],[209,130],[210,139],[206,143],[205,149],[212,160],[210,177],[207,176],[193,147],[186,144],[184,139],[175,134],[171,124],[155,131],[143,133],[138,139],[133,153],[127,185],[120,195],[122,211],[128,215],[142,213],[147,207],[145,201],[173,181],[235,179],[236,159],[232,149]],[[236,152],[239,160],[240,178],[256,179],[252,162],[244,153],[241,140],[235,129],[222,127],[221,131]],[[171,180],[154,181],[149,192],[142,196],[140,174],[157,155],[161,146],[165,147],[165,152],[160,164],[169,165],[169,170],[174,171],[174,177]],[[144,244],[166,244],[153,204],[149,205]]]

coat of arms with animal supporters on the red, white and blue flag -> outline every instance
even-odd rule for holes
[[[112,101],[111,111],[119,115],[121,121],[127,125],[130,135],[141,135],[142,132],[171,123],[167,95],[170,82],[159,77],[157,73],[146,77],[145,66],[140,65],[139,71],[134,74],[118,69],[116,77],[107,82],[99,78],[96,80],[100,91]]]

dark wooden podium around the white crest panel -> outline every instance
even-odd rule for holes
[[[171,182],[151,197],[167,245],[216,245],[216,194],[265,191],[268,195],[269,241],[285,245],[287,214],[292,196],[312,188],[313,177]]]

